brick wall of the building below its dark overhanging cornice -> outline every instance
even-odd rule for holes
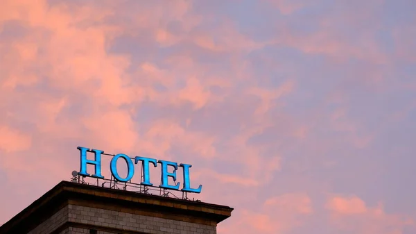
[[[28,234],[46,234],[55,231],[65,222],[84,226],[100,226],[112,232],[98,231],[100,234],[113,233],[177,233],[177,234],[216,234],[216,226],[196,224],[159,217],[136,215],[128,212],[67,205]],[[99,228],[98,228],[99,229]],[[89,233],[88,228],[69,227],[60,234]]]

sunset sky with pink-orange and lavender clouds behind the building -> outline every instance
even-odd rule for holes
[[[80,146],[193,165],[220,234],[416,233],[415,10],[1,1],[0,224]]]

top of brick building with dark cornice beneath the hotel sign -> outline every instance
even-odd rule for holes
[[[233,208],[62,181],[0,227],[1,234],[216,233]]]

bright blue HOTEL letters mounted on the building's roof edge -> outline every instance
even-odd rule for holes
[[[77,147],[77,149],[80,150],[80,172],[78,174],[80,176],[104,178],[104,176],[101,174],[101,155],[104,153],[104,151],[98,149],[88,149],[85,147]],[[94,153],[94,160],[87,159],[87,152]],[[127,165],[127,176],[125,176],[124,178],[119,175],[119,172],[117,172],[116,165],[118,160],[122,160]],[[159,167],[162,170],[162,178],[160,180],[161,184],[159,185],[159,187],[168,190],[181,190],[182,192],[195,193],[200,193],[202,190],[202,185],[199,185],[198,188],[191,188],[189,168],[192,167],[192,165],[184,163],[180,163],[180,165],[177,165],[176,162],[156,160],[155,158],[130,158],[129,156],[123,153],[119,153],[114,155],[112,160],[110,161],[110,172],[116,181],[128,183],[135,175],[135,165],[137,164],[137,162],[141,162],[141,169],[144,173],[140,182],[141,185],[153,187],[153,183],[150,183],[150,165],[153,165],[153,167],[157,167],[157,165],[159,164]],[[90,175],[87,173],[87,164],[94,165],[94,174]],[[184,182],[182,185],[182,189],[180,189],[179,182],[177,182],[176,185],[169,185],[168,183],[169,177],[173,178],[173,181],[176,181],[176,171],[178,167],[182,167],[183,172]]]

